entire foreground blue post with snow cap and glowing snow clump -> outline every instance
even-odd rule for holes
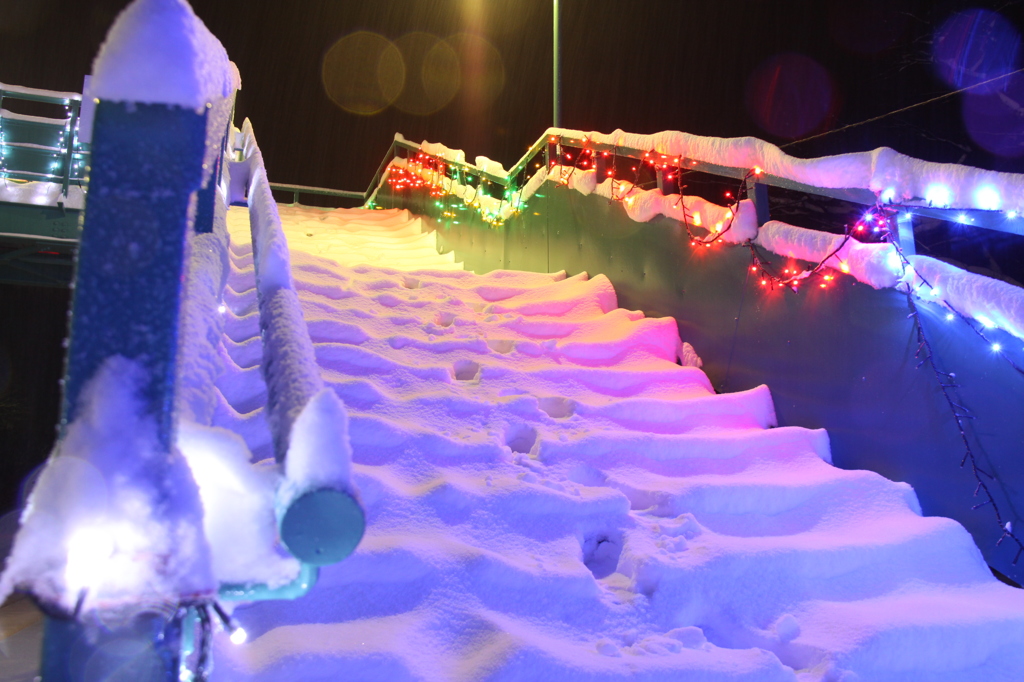
[[[217,593],[175,407],[198,197],[215,191],[239,78],[184,0],[135,0],[90,85],[60,433],[0,594],[29,591],[47,612],[46,682],[172,682],[182,614]]]

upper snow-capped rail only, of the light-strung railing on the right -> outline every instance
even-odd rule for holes
[[[567,158],[569,150],[592,154],[591,169],[599,169],[602,179],[604,173],[614,172],[608,158],[648,162],[656,169],[658,189],[668,196],[678,194],[680,174],[688,172],[746,178],[758,224],[770,219],[769,186],[864,206],[889,205],[900,209],[899,238],[907,253],[913,249],[913,216],[1024,235],[1024,175],[922,161],[888,147],[797,159],[754,137],[701,137],[677,131],[639,135],[616,130],[605,134],[549,128],[508,171],[485,157],[468,163],[461,151],[430,142],[417,144],[401,135],[395,135],[385,163],[394,157],[416,155],[437,159],[443,162],[442,172],[449,178],[477,186],[499,185],[500,199],[511,202],[528,199],[530,180],[536,177],[530,164],[542,152],[547,168],[564,164],[578,169]],[[368,198],[375,188],[376,184],[368,190]],[[511,212],[511,208],[507,210]]]

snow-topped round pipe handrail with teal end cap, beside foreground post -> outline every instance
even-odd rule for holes
[[[267,421],[284,464],[279,492],[282,541],[300,560],[327,564],[348,556],[366,519],[351,482],[344,407],[324,384],[292,281],[288,243],[252,124],[243,124],[249,220],[263,337]]]

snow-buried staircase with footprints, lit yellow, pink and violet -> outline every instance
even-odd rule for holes
[[[225,680],[1018,680],[1024,593],[913,492],[716,395],[606,278],[463,271],[407,212],[281,207],[368,512],[296,601],[236,610]],[[248,213],[222,378],[270,452]],[[699,352],[699,348],[696,349]]]

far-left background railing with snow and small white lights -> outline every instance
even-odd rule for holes
[[[65,118],[15,114],[5,100],[43,102],[65,108]],[[82,95],[0,83],[0,177],[55,182],[67,197],[72,182],[85,180],[88,144],[79,139]]]

